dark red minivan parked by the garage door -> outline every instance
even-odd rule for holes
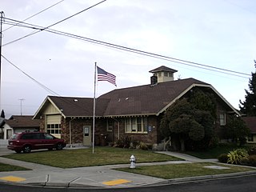
[[[66,146],[64,139],[55,138],[42,132],[22,132],[14,134],[8,141],[7,148],[17,153],[30,153],[31,150],[62,150]]]

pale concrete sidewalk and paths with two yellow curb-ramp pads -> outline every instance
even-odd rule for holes
[[[191,157],[190,155],[178,154],[170,151],[161,151],[158,153],[169,154],[178,158],[182,158],[186,161],[137,163],[136,166],[152,166],[161,164],[177,164],[191,162],[216,162],[216,159],[210,159],[209,161],[202,160],[199,158]],[[11,182],[14,184],[17,183],[18,185],[22,184],[31,186],[127,188],[135,186],[167,184],[170,182],[187,182],[191,179],[214,178],[214,176],[204,176],[197,178],[179,178],[167,180],[162,178],[154,178],[145,175],[131,174],[118,170],[112,170],[118,167],[129,167],[129,163],[122,165],[89,166],[72,169],[62,169],[52,166],[38,165],[30,162],[21,162],[2,157],[0,157],[0,162],[31,169],[26,171],[0,172],[0,182]],[[254,173],[256,173],[256,171]],[[241,173],[239,175],[241,175]],[[218,175],[218,177],[223,177],[223,175]]]

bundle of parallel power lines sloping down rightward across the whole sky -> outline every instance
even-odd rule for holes
[[[5,23],[10,24],[10,25],[13,25],[15,22],[18,22],[16,20],[13,20],[13,19],[10,19],[10,18],[6,18],[6,20],[8,20],[8,22],[5,22]],[[245,74],[245,73],[234,71],[234,70],[227,70],[227,69],[223,69],[223,68],[219,68],[219,67],[215,67],[215,66],[207,66],[205,64],[201,64],[201,63],[198,63],[198,62],[190,62],[190,61],[182,60],[182,59],[179,59],[179,58],[168,57],[168,56],[165,56],[165,55],[162,55],[162,54],[154,54],[154,53],[150,53],[150,52],[143,51],[143,50],[136,50],[136,49],[126,47],[126,46],[118,46],[118,45],[110,43],[110,42],[102,42],[102,41],[99,41],[99,40],[96,40],[96,39],[93,39],[93,38],[86,38],[86,37],[82,37],[82,36],[79,36],[79,35],[76,35],[76,34],[69,34],[69,33],[66,33],[66,32],[62,32],[62,31],[59,31],[59,30],[45,29],[42,26],[35,26],[33,24],[30,24],[30,23],[22,22],[22,24],[19,23],[18,26],[27,27],[27,28],[31,28],[31,29],[34,29],[34,30],[46,30],[47,32],[50,32],[50,33],[53,33],[53,34],[60,34],[62,36],[66,36],[66,37],[76,38],[76,39],[79,39],[79,40],[82,40],[82,41],[98,44],[100,46],[107,46],[107,47],[111,47],[111,48],[118,49],[118,50],[125,50],[125,51],[129,51],[129,52],[132,52],[132,53],[135,53],[135,54],[142,54],[142,55],[145,55],[145,56],[148,56],[148,57],[151,57],[151,58],[158,58],[158,59],[166,60],[166,61],[169,61],[169,62],[176,62],[176,63],[186,65],[186,66],[197,67],[197,68],[200,68],[200,69],[203,69],[203,70],[210,70],[210,71],[214,71],[214,72],[218,72],[218,73],[222,73],[222,74],[234,75],[234,76],[237,76],[239,78],[248,78],[248,76],[250,76],[250,74]],[[3,45],[3,46],[6,46],[6,44]],[[244,76],[246,76],[246,77],[244,77]]]

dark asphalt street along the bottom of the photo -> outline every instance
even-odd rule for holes
[[[82,192],[82,191],[114,191],[114,192],[248,192],[256,191],[256,174],[250,176],[243,176],[238,178],[215,179],[202,182],[180,183],[167,186],[149,186],[142,188],[129,188],[129,189],[71,189],[71,188],[46,188],[34,186],[12,186],[0,185],[1,192]]]

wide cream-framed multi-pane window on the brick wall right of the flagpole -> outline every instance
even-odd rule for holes
[[[126,118],[126,133],[147,133],[147,118]]]

